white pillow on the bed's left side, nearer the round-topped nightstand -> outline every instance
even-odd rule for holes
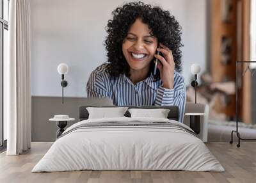
[[[120,118],[125,117],[124,114],[128,107],[86,107],[89,117],[95,118]]]

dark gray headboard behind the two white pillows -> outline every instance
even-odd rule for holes
[[[91,107],[91,106],[81,106],[79,107],[79,120],[87,120],[89,113],[86,109],[86,107]],[[92,106],[92,107],[97,107],[97,106]],[[118,107],[118,106],[98,106],[98,107]],[[127,106],[129,108],[143,108],[143,109],[157,109],[157,108],[164,108],[164,109],[170,109],[170,112],[168,113],[168,119],[170,120],[176,120],[179,121],[179,107],[178,106]],[[126,117],[131,117],[131,114],[129,111],[127,111],[124,114]]]

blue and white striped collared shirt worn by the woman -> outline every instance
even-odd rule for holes
[[[108,97],[115,106],[179,106],[179,121],[183,122],[186,86],[184,77],[174,72],[173,89],[163,88],[161,79],[147,79],[133,84],[125,74],[112,79],[104,63],[93,70],[87,83],[88,97]]]

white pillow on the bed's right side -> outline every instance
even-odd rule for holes
[[[128,109],[133,117],[167,118],[170,109]]]

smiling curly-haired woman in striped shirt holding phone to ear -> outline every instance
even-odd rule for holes
[[[88,97],[109,97],[116,106],[179,106],[182,122],[186,87],[179,74],[179,23],[170,12],[140,1],[124,4],[112,14],[106,28],[108,63],[90,75]]]

